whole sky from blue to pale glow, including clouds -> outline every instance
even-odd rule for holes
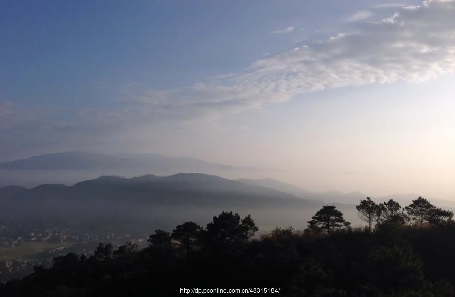
[[[162,153],[455,200],[455,1],[2,1],[0,161]]]

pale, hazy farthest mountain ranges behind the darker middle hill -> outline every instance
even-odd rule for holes
[[[176,173],[206,173],[212,175],[236,176],[254,168],[239,168],[216,164],[190,157],[169,157],[160,154],[99,154],[86,152],[65,152],[33,156],[27,159],[0,162],[0,187],[21,185],[34,187],[44,183],[73,184],[80,180],[94,179],[106,173],[123,176],[153,173],[172,175]],[[238,176],[238,175],[237,175]],[[151,176],[149,176],[150,179]],[[156,177],[158,179],[158,177]],[[164,181],[164,180],[161,180]],[[360,192],[341,193],[337,191],[311,192],[278,180],[238,179],[238,182],[252,186],[266,187],[291,194],[306,200],[317,200],[325,203],[358,204],[367,195]],[[382,202],[394,199],[408,204],[418,194],[390,195],[372,197]],[[440,205],[455,207],[455,202],[437,200]]]

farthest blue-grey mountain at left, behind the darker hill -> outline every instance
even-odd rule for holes
[[[115,174],[126,177],[153,173],[172,175],[201,172],[224,177],[253,172],[254,168],[233,167],[190,157],[169,157],[159,154],[98,154],[84,152],[53,153],[0,163],[0,187],[40,184],[74,184]]]

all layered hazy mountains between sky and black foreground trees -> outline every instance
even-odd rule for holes
[[[311,192],[270,178],[231,180],[217,174],[226,176],[226,172],[230,172],[231,176],[247,176],[246,170],[158,154],[68,152],[3,162],[0,163],[0,187],[20,186],[0,188],[0,224],[2,220],[26,220],[50,226],[63,222],[71,226],[87,224],[89,229],[129,220],[133,222],[129,230],[138,230],[149,224],[170,228],[181,223],[181,219],[204,223],[219,211],[234,210],[251,213],[261,228],[288,224],[305,228],[308,219],[324,204],[336,205],[354,225],[360,224],[354,207],[366,198],[360,192]],[[105,175],[134,176],[146,172],[154,175],[132,178]],[[27,187],[21,187],[24,185]],[[376,202],[394,199],[404,206],[418,196],[372,199]],[[439,207],[455,207],[451,201],[429,200]],[[93,223],[100,220],[103,223]]]

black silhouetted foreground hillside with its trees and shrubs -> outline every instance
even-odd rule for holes
[[[250,216],[221,213],[156,230],[141,251],[134,243],[69,253],[0,284],[1,296],[165,296],[180,288],[280,288],[283,296],[453,296],[453,213],[419,197],[357,205],[368,226],[352,229],[324,206],[308,229],[276,228],[260,239]]]

